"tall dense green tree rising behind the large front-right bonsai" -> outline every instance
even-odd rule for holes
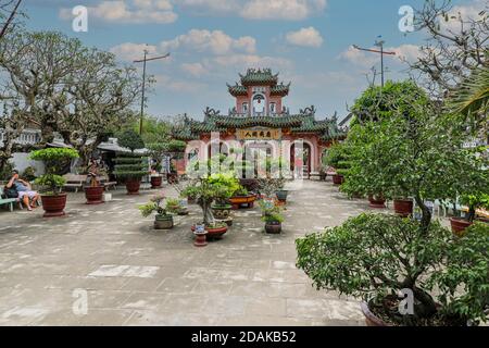
[[[427,229],[431,212],[426,201],[487,192],[489,163],[482,149],[464,148],[467,139],[460,125],[413,82],[389,83],[384,90],[381,96],[375,94],[375,103],[360,109],[363,113],[349,133],[347,141],[353,151],[346,189],[413,197]]]

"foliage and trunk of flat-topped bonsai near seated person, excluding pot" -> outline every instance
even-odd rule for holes
[[[66,181],[63,178],[63,170],[70,165],[73,159],[77,159],[78,152],[70,148],[48,148],[30,152],[29,158],[45,163],[46,173],[36,179],[36,184],[48,188],[46,195],[59,195]]]

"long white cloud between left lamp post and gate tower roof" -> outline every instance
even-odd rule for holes
[[[253,53],[256,40],[251,36],[238,39],[231,38],[222,30],[191,29],[173,40],[161,42],[163,50],[191,50],[197,52],[211,52],[213,54],[229,54],[234,51]]]

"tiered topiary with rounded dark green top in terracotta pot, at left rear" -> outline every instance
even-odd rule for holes
[[[148,165],[142,154],[135,150],[145,148],[145,141],[136,132],[129,129],[118,137],[118,145],[130,150],[130,153],[120,152],[115,158],[114,175],[125,182],[128,195],[139,195],[141,178],[148,175]]]

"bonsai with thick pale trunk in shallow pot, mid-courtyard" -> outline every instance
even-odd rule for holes
[[[215,199],[222,197],[224,190],[228,191],[228,195],[230,196],[233,188],[236,185],[236,183],[233,183],[233,186],[224,187],[223,183],[230,183],[230,181],[220,177],[223,175],[227,177],[231,174],[213,174],[211,176],[193,179],[183,191],[184,197],[195,197],[197,203],[202,209],[203,220],[196,225],[203,224],[205,226],[208,239],[221,238],[228,228],[226,223],[216,221],[212,212],[212,203]],[[196,225],[192,226],[192,231],[196,231]]]

